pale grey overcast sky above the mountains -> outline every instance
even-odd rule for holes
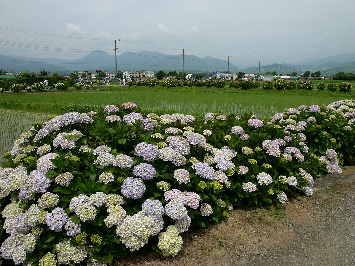
[[[228,59],[241,68],[354,53],[354,0],[0,0],[0,55],[94,49]]]

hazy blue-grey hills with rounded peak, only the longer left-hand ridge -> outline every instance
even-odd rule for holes
[[[20,64],[27,62],[26,67]],[[41,63],[34,63],[41,62]],[[48,65],[50,64],[50,65]],[[10,67],[11,66],[11,67]],[[30,67],[31,66],[31,67]],[[31,58],[8,57],[7,60],[0,61],[0,69],[8,72],[39,72],[45,68],[47,71],[60,70],[60,72],[70,73],[72,71],[95,71],[102,69],[107,72],[115,71],[115,57],[101,50],[94,50],[85,57],[78,60],[50,59],[50,58]],[[166,55],[158,52],[142,51],[140,53],[127,52],[117,56],[117,69],[119,71],[146,70],[157,72],[163,71],[182,71],[182,55]],[[184,71],[198,70],[200,72],[227,71],[228,61],[212,57],[199,58],[197,56],[185,55]],[[229,71],[238,72],[237,66],[229,63]]]

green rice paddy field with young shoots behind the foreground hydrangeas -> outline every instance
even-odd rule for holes
[[[83,104],[100,105],[135,102],[144,113],[183,113],[203,116],[208,112],[242,115],[245,112],[268,120],[278,112],[300,105],[328,105],[333,101],[354,98],[350,92],[305,91],[264,91],[216,88],[150,88],[115,87],[108,91],[71,91],[50,93],[5,93],[0,95],[0,103],[13,102],[6,109],[0,109],[0,161],[3,153],[11,150],[19,135],[28,131],[33,122],[44,122],[48,114],[63,114],[60,107]],[[22,104],[19,104],[22,103]],[[1,105],[3,107],[3,104]],[[12,110],[10,110],[12,109]],[[30,112],[29,112],[30,111]]]

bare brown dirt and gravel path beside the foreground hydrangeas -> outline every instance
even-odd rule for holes
[[[234,210],[228,222],[185,235],[175,257],[149,253],[112,265],[355,265],[355,166],[317,178],[314,191],[279,209]]]

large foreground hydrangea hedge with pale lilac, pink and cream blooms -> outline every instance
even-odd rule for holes
[[[0,168],[1,255],[33,266],[107,265],[148,248],[175,256],[191,226],[311,196],[320,174],[354,163],[354,106],[197,120],[143,117],[126,102],[33,123]]]

